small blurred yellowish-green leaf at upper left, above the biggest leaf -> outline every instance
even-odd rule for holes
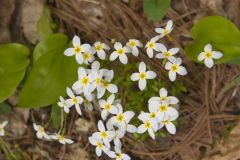
[[[37,23],[37,31],[41,39],[53,33],[54,24],[49,7],[44,7],[41,17]]]

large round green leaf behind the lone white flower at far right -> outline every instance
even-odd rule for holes
[[[201,19],[192,28],[191,35],[194,43],[186,46],[185,51],[193,61],[197,62],[199,53],[207,43],[212,44],[214,50],[223,53],[217,63],[226,63],[240,57],[240,31],[224,17],[209,16]]]

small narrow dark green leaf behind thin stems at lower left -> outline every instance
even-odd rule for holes
[[[53,126],[59,129],[61,126],[61,108],[57,104],[52,105],[51,119]]]

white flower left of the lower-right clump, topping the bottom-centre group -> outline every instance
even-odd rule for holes
[[[107,126],[116,126],[121,132],[125,133],[127,130],[127,125],[131,121],[135,113],[133,111],[123,112],[121,104],[117,104],[116,106],[118,108],[118,113],[116,116],[113,116],[108,120]]]

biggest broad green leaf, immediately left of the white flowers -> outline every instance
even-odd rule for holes
[[[44,107],[54,104],[60,95],[66,95],[66,87],[71,86],[77,80],[78,65],[75,58],[66,57],[63,54],[68,47],[67,37],[53,34],[44,41],[49,39],[52,39],[52,43],[48,44],[50,47],[42,47],[45,48],[42,56],[33,65],[19,94],[21,107]],[[55,43],[63,45],[53,49],[51,46]],[[42,45],[45,44],[42,43]]]

